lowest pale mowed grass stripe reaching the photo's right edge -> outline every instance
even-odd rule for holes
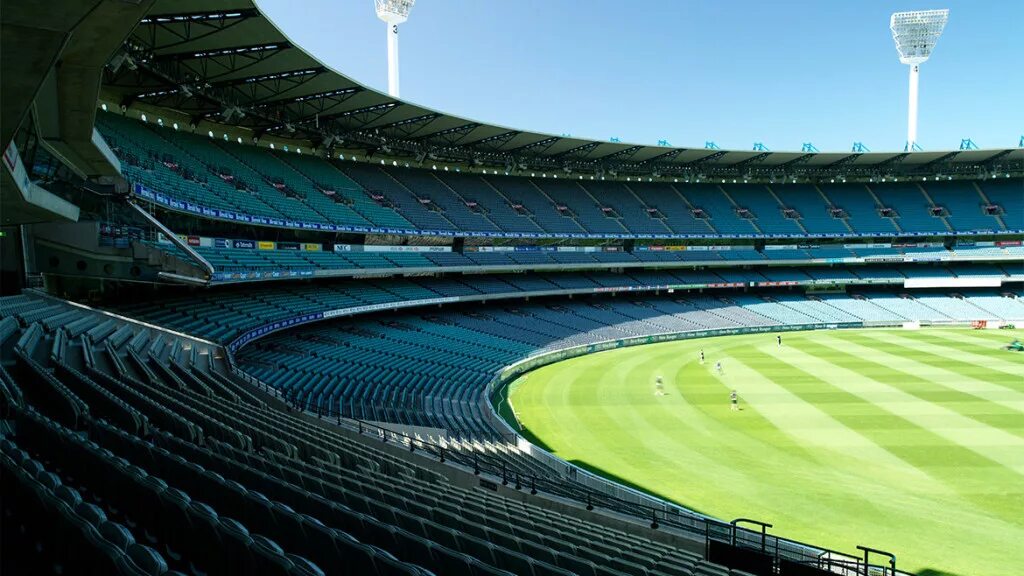
[[[829,380],[846,392],[1024,476],[1024,439],[973,420],[942,404],[924,401],[897,385],[885,383],[880,376],[884,376],[887,371],[890,379],[894,375],[887,367],[876,365],[874,370],[868,370],[862,366],[864,363],[869,364],[867,359],[825,346],[820,348],[829,351],[835,357],[820,352],[815,355],[793,346],[783,346],[778,353],[786,363],[804,371],[829,374]],[[844,357],[846,362],[834,362]],[[906,374],[896,374],[896,377],[912,380]]]

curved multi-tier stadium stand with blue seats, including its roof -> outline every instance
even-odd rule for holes
[[[247,1],[2,26],[5,571],[866,570],[558,460],[504,384],[676,338],[1024,321],[1021,149],[531,133],[359,85]]]

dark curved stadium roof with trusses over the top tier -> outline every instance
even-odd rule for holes
[[[913,153],[723,151],[528,132],[393,98],[302,50],[251,0],[157,0],[116,53],[102,97],[418,162],[641,176],[778,178],[1024,171],[1024,150]]]

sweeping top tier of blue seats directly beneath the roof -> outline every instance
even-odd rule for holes
[[[500,176],[271,151],[97,116],[126,176],[155,193],[261,218],[459,233],[899,235],[1024,230],[1024,180],[741,184]],[[933,194],[934,192],[934,194]],[[998,205],[1001,215],[983,207]],[[831,208],[845,210],[838,218]],[[891,208],[888,217],[881,208]],[[948,213],[933,214],[944,208]],[[696,210],[703,217],[695,217]],[[787,217],[783,210],[795,212]]]

